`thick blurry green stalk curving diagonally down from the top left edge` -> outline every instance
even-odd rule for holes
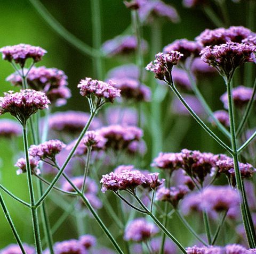
[[[41,15],[45,22],[49,24],[49,26],[70,45],[77,48],[83,54],[91,56],[92,58],[102,54],[99,52],[99,50],[96,50],[85,44],[82,40],[74,36],[73,33],[70,33],[65,27],[63,27],[62,24],[60,24],[60,22],[58,22],[49,11],[47,11],[45,6],[39,0],[29,0],[29,2],[34,6],[36,11],[39,13],[39,15]]]

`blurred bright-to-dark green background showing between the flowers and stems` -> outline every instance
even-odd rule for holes
[[[92,24],[91,24],[91,6],[89,0],[42,0],[47,10],[57,19],[62,26],[73,33],[79,39],[88,45],[92,45]],[[206,18],[199,9],[185,9],[181,0],[165,1],[175,6],[179,12],[181,21],[173,24],[165,19],[162,22],[162,47],[171,43],[175,39],[187,38],[193,40],[205,28],[213,29],[214,25]],[[246,26],[246,6],[245,4],[235,4],[227,1],[231,24],[234,26]],[[121,0],[101,0],[101,21],[102,21],[102,41],[111,39],[121,34],[131,24],[131,11],[126,9]],[[143,37],[151,44],[150,26],[143,27]],[[92,77],[97,79],[91,57],[83,54],[61,38],[50,26],[41,18],[29,0],[1,0],[0,1],[0,47],[6,45],[15,45],[26,43],[38,45],[47,50],[47,54],[43,57],[43,61],[39,65],[46,67],[57,67],[65,71],[68,75],[69,88],[73,96],[68,100],[68,104],[58,108],[58,111],[67,109],[87,111],[87,101],[79,95],[77,84],[84,77]],[[157,52],[155,52],[157,53]],[[151,61],[151,53],[145,55],[145,66]],[[124,63],[135,63],[135,57],[125,58],[107,58],[103,60],[104,74],[112,67]],[[0,94],[7,90],[15,90],[10,83],[5,81],[7,75],[13,72],[12,66],[6,61],[0,61]],[[147,74],[148,84],[153,75]],[[164,88],[165,89],[165,88]],[[225,86],[220,78],[214,80],[204,80],[200,84],[200,89],[209,100],[213,110],[222,108],[219,96],[225,91]],[[179,151],[181,148],[199,149],[202,151],[211,151],[220,153],[222,149],[215,145],[206,134],[197,126],[195,121],[189,116],[173,117],[170,108],[170,91],[167,91],[166,99],[162,104],[161,114],[165,142],[163,151]],[[149,105],[145,105],[149,108]],[[146,123],[149,116],[145,115]],[[173,126],[175,128],[173,128]],[[145,140],[148,146],[148,153],[145,157],[144,165],[147,167],[152,160],[150,147],[152,140],[149,125],[145,127]],[[218,132],[217,132],[218,133]],[[221,134],[218,133],[220,136]],[[179,141],[177,141],[179,140]],[[17,145],[22,148],[21,140],[17,140]],[[9,141],[0,140],[0,181],[9,188],[13,193],[28,200],[26,175],[17,176],[15,174],[14,158],[19,157],[15,154],[17,148],[10,145]],[[30,226],[29,211],[19,204],[13,202],[4,194],[6,204],[10,209],[18,231],[23,241],[33,243],[32,228]],[[51,201],[52,202],[52,201]],[[49,203],[51,205],[52,203]],[[54,209],[51,213],[51,222],[62,213],[61,210]],[[100,211],[104,216],[104,213]],[[76,229],[73,221],[68,219],[54,235],[54,240],[64,240],[76,238]],[[174,222],[175,224],[175,222]],[[114,228],[115,230],[115,228]],[[101,232],[98,235],[102,235]],[[178,238],[182,238],[183,242],[186,233],[179,226],[179,231],[175,232]],[[100,237],[99,237],[100,238]],[[12,233],[6,223],[2,210],[0,211],[0,249],[7,244],[14,242]],[[108,242],[106,244],[109,244]]]

